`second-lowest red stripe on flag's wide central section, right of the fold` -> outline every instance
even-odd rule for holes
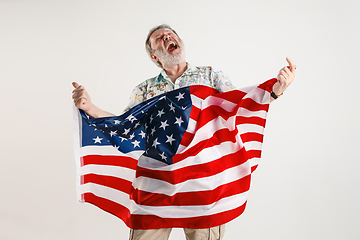
[[[133,189],[130,196],[137,204],[146,206],[195,206],[209,205],[222,198],[249,191],[251,176],[221,185],[213,190],[182,192],[173,196]]]

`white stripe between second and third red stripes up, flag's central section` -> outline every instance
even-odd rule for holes
[[[245,162],[209,177],[191,179],[178,184],[140,176],[134,180],[133,186],[142,191],[173,196],[180,192],[213,190],[221,185],[241,179],[250,173],[251,166],[248,162]]]

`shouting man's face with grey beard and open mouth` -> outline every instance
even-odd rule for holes
[[[154,51],[151,54],[151,58],[159,61],[163,68],[185,62],[184,44],[170,29],[162,28],[156,30],[150,36],[150,44]]]

